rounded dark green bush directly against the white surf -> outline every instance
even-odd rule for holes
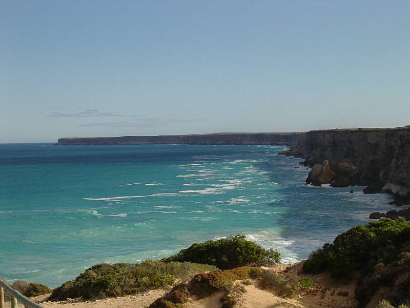
[[[246,240],[244,235],[236,235],[215,241],[195,243],[186,249],[181,249],[177,255],[162,259],[162,261],[190,261],[229,269],[267,262],[279,263],[280,254],[274,249],[264,249]]]

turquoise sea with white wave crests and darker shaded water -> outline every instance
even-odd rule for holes
[[[283,149],[0,144],[0,276],[55,287],[235,234],[294,262],[391,209],[362,187],[304,185],[309,170]]]

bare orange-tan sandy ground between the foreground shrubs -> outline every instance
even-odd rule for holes
[[[286,269],[290,267],[289,269]],[[300,272],[301,264],[277,265],[270,270],[289,275],[291,271]],[[284,299],[274,293],[262,290],[258,280],[252,280],[253,284],[245,285],[246,292],[242,294],[237,307],[239,308],[356,308],[354,299],[354,284],[344,284],[341,281],[331,279],[329,273],[310,276],[318,287],[304,288],[298,291],[292,298]],[[237,281],[236,283],[240,283]],[[170,288],[152,290],[147,294],[124,297],[107,298],[93,301],[67,300],[61,302],[47,301],[48,295],[32,298],[44,308],[143,308],[149,306],[155,299],[165,295]],[[220,298],[223,292],[218,292],[203,299],[192,298],[187,308],[220,308]],[[377,304],[377,303],[375,303]],[[6,307],[9,304],[6,303]],[[373,308],[368,306],[367,308]]]

